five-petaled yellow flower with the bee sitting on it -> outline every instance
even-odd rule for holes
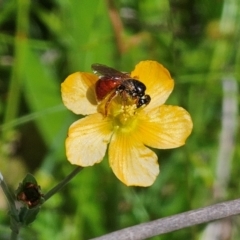
[[[130,97],[118,94],[108,104],[97,103],[98,76],[76,72],[61,85],[64,105],[76,114],[88,115],[74,122],[66,139],[68,160],[87,167],[108,158],[114,174],[126,185],[150,186],[159,174],[157,155],[148,147],[169,149],[182,146],[192,131],[189,113],[181,107],[164,105],[173,90],[168,70],[155,61],[142,61],[131,77],[146,85],[148,105],[136,107]]]

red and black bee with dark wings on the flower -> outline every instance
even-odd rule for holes
[[[92,69],[100,76],[95,85],[97,100],[108,98],[105,104],[106,116],[109,104],[117,95],[121,96],[123,104],[128,97],[132,98],[137,108],[150,103],[151,97],[145,94],[146,86],[139,80],[131,78],[129,73],[99,63],[92,64]]]

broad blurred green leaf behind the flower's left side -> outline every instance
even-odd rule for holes
[[[36,123],[46,144],[51,146],[56,139],[63,143],[58,137],[69,125],[70,115],[62,104],[60,83],[33,51],[28,49],[26,56],[23,90],[27,104],[32,112],[40,113]]]

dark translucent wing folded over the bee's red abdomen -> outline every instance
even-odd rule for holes
[[[108,67],[100,63],[92,64],[92,70],[95,74],[106,77],[116,77],[116,78],[127,78],[129,75],[127,73],[122,73],[114,68]]]

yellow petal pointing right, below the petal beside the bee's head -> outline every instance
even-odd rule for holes
[[[169,149],[184,145],[192,127],[191,117],[185,109],[162,105],[152,109],[148,115],[140,116],[137,133],[144,144]]]

